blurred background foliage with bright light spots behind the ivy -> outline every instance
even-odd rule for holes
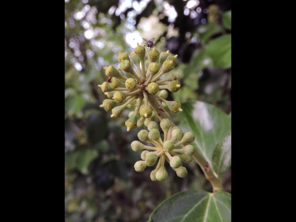
[[[65,221],[148,221],[159,203],[181,190],[212,190],[194,162],[184,179],[168,172],[166,181],[152,182],[150,169],[136,172],[140,153],[130,143],[141,128],[127,133],[128,113],[114,119],[100,108],[106,95],[97,87],[107,79],[104,66],[119,66],[118,51],[133,50],[129,35],[155,37],[160,52],[178,54],[174,74],[182,87],[168,100],[204,101],[229,114],[231,1],[198,2],[65,0]],[[178,114],[172,119],[181,122]],[[231,166],[221,178],[231,192]]]

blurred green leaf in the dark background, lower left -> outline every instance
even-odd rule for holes
[[[76,167],[81,171],[81,173],[88,174],[88,165],[98,155],[98,151],[94,149],[85,149],[81,151],[77,156]]]

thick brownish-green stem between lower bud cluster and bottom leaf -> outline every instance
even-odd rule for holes
[[[211,185],[213,186],[213,192],[222,190],[222,183],[215,176],[214,172],[211,170],[209,163],[197,152],[197,150],[193,154],[193,158],[201,167],[202,171],[205,174],[205,177],[208,181],[210,181]]]

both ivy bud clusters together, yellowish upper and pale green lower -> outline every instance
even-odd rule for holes
[[[129,119],[125,121],[127,131],[135,129],[137,126],[148,128],[149,132],[141,130],[138,133],[138,138],[155,147],[146,146],[139,141],[134,141],[131,144],[134,151],[153,150],[142,152],[142,160],[134,165],[136,171],[142,172],[147,166],[153,166],[159,158],[150,178],[152,181],[163,181],[168,176],[164,168],[166,159],[177,175],[184,178],[187,175],[187,170],[182,166],[182,161],[191,162],[195,149],[190,143],[195,138],[191,132],[184,134],[170,120],[171,114],[183,110],[180,102],[165,100],[168,96],[166,90],[177,92],[181,87],[180,82],[176,80],[177,77],[174,74],[160,79],[163,74],[174,69],[177,55],[169,55],[169,51],[159,53],[154,46],[148,52],[148,60],[146,61],[144,61],[145,56],[145,47],[137,43],[137,47],[131,52],[130,57],[127,53],[119,52],[120,68],[104,67],[105,74],[109,78],[98,86],[109,99],[105,99],[100,107],[106,111],[112,111],[111,117],[119,117],[126,108],[135,107],[135,110],[129,113]],[[131,62],[137,70],[134,70]],[[123,71],[130,74],[131,77],[127,77]],[[160,127],[164,132],[163,141],[157,123],[152,121],[153,115],[160,120]]]

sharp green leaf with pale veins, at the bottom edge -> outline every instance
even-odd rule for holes
[[[163,201],[148,222],[231,222],[231,194],[188,190]]]

